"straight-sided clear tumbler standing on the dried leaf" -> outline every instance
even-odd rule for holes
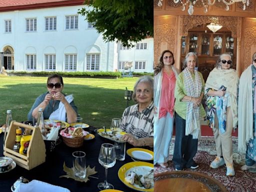
[[[84,178],[86,176],[85,152],[74,151],[72,155],[74,176]]]

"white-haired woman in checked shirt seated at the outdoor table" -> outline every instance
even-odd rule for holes
[[[133,88],[132,99],[137,104],[127,107],[121,118],[122,138],[133,146],[153,146],[153,79],[139,78]]]

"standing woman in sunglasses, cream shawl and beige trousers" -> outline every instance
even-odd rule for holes
[[[205,83],[207,119],[216,143],[216,158],[211,168],[226,164],[226,175],[233,176],[232,129],[237,126],[238,75],[231,68],[231,55],[221,54],[216,67],[209,73]]]

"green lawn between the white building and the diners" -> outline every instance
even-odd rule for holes
[[[132,90],[137,77],[102,79],[64,77],[63,93],[73,94],[83,122],[95,127],[110,126],[113,117],[121,117],[126,107],[124,89]],[[6,110],[12,110],[16,121],[27,120],[35,98],[46,89],[47,77],[0,77],[0,124],[5,124]],[[133,104],[130,101],[130,104]]]

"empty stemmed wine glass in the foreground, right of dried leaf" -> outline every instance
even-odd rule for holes
[[[101,144],[100,151],[98,154],[98,162],[105,167],[105,180],[104,182],[98,183],[98,189],[112,189],[114,186],[107,182],[107,168],[112,167],[115,164],[115,151],[114,145],[109,143]]]

